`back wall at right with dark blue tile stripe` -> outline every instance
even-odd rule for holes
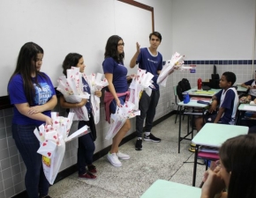
[[[200,77],[233,71],[236,84],[252,79],[255,67],[255,0],[172,0],[172,48],[185,55],[186,66],[196,72],[177,71],[173,84],[183,77],[192,87]]]

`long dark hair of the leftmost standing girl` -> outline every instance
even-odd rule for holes
[[[38,84],[36,77],[41,76],[45,79],[48,79],[44,73],[40,72],[39,70],[36,70],[35,62],[37,61],[36,59],[38,54],[43,54],[43,49],[39,45],[35,44],[34,42],[25,43],[20,48],[16,69],[11,75],[11,78],[17,74],[19,74],[22,77],[24,83],[24,92],[26,95],[27,102],[30,106],[34,104],[34,84],[41,87],[41,85]],[[31,74],[33,73],[35,74],[34,79],[31,77]],[[11,78],[9,82],[11,81]]]

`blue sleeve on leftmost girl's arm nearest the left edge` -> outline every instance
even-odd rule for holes
[[[26,103],[23,79],[20,75],[11,78],[8,84],[8,93],[11,99],[11,105]]]

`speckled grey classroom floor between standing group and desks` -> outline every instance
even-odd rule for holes
[[[173,115],[153,128],[152,133],[162,138],[161,143],[143,142],[141,151],[134,150],[135,139],[125,143],[120,150],[131,158],[123,160],[121,167],[110,165],[106,157],[100,158],[94,162],[97,180],[81,180],[75,172],[50,187],[49,195],[54,198],[134,198],[141,196],[158,179],[192,186],[194,155],[188,150],[190,142],[185,140],[177,153],[178,123],[174,120]],[[186,121],[182,128],[186,130]],[[204,170],[204,165],[198,165],[196,187],[200,186]]]

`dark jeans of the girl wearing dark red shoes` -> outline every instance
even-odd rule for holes
[[[89,119],[93,119],[92,116],[90,116]],[[87,125],[90,126],[89,121],[79,121],[79,128],[84,127]],[[78,168],[79,168],[79,174],[84,174],[87,172],[86,165],[92,165],[93,164],[93,156],[94,156],[94,139],[93,134],[88,133],[85,136],[79,137],[79,149],[78,149]]]

